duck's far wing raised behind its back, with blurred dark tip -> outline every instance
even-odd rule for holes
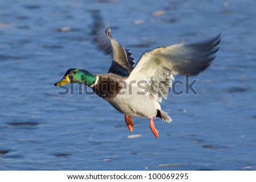
[[[108,23],[105,22],[99,11],[94,11],[92,16],[94,19],[92,30],[94,35],[93,41],[97,43],[98,48],[103,50],[106,54],[112,53],[112,65],[108,73],[118,74],[123,77],[127,76],[131,70],[133,70],[135,64],[133,54],[131,54],[130,50],[123,48],[123,46],[111,36],[110,28],[107,28]]]

